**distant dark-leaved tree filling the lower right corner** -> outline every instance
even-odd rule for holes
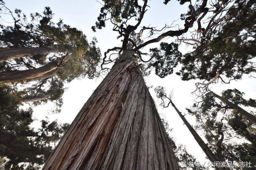
[[[246,100],[243,95],[244,92],[237,89],[228,89],[222,92],[221,97],[236,105],[255,108],[255,100]],[[216,100],[211,92],[201,96],[199,100],[187,110],[196,117],[198,128],[204,129],[210,147],[223,159],[237,162],[250,161],[255,168],[255,124],[245,119],[236,108]],[[251,114],[255,115],[252,111]],[[239,143],[239,139],[243,140]]]

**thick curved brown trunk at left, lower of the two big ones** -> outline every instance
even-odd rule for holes
[[[55,60],[36,69],[1,72],[0,82],[5,85],[10,85],[13,83],[42,80],[44,78],[47,78],[47,76],[48,77],[51,76],[53,73],[56,74],[54,70],[56,69],[59,70],[58,69],[59,63],[60,63],[59,60]],[[47,73],[50,73],[50,74],[47,74]]]

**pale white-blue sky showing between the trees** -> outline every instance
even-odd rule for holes
[[[161,1],[161,2],[160,2]],[[181,13],[187,11],[187,5],[180,5],[177,1],[172,1],[168,5],[162,3],[163,0],[151,0],[148,2],[150,8],[146,12],[140,26],[156,26],[161,28],[164,24],[170,25],[174,20],[178,20]],[[50,6],[54,15],[55,22],[59,18],[63,19],[64,23],[69,24],[72,27],[76,27],[82,30],[87,36],[88,41],[92,40],[92,37],[96,37],[98,40],[97,46],[100,48],[103,54],[108,48],[115,46],[120,47],[120,39],[117,40],[118,34],[112,31],[112,25],[109,23],[102,30],[97,30],[94,33],[91,29],[97,20],[100,13],[101,4],[96,0],[6,0],[5,4],[12,11],[15,8],[19,8],[29,16],[30,13],[42,12],[45,6]],[[175,24],[179,24],[181,27],[184,25],[183,21],[178,20]],[[173,30],[177,29],[177,26],[173,25]],[[173,42],[174,38],[164,39],[164,42]],[[143,49],[143,52],[152,47],[158,47],[159,44],[151,44],[149,47]],[[179,49],[182,53],[189,51],[186,46],[181,46]],[[102,55],[103,56],[103,55]],[[174,73],[176,71],[174,70]],[[90,97],[93,90],[100,84],[103,78],[90,80],[83,78],[80,80],[73,80],[66,84],[68,88],[63,95],[63,106],[60,114],[49,114],[49,110],[53,107],[52,103],[40,105],[34,107],[33,116],[38,120],[37,123],[32,124],[33,127],[38,125],[38,122],[48,116],[50,120],[57,119],[62,123],[71,123],[75,118],[76,114],[82,108],[86,100]],[[176,144],[183,144],[186,146],[187,151],[194,155],[201,164],[208,162],[205,159],[205,154],[199,145],[196,143],[193,136],[185,125],[179,115],[175,112],[172,107],[162,108],[160,107],[160,101],[156,98],[154,88],[156,86],[164,86],[167,91],[173,89],[172,101],[176,107],[183,113],[186,113],[186,107],[191,107],[196,100],[196,96],[191,94],[195,90],[195,83],[198,80],[182,81],[179,76],[172,74],[165,78],[159,78],[152,71],[149,77],[145,78],[148,86],[153,85],[150,89],[153,99],[156,101],[158,112],[166,117],[166,121],[172,129],[171,136],[173,137]],[[245,75],[242,80],[233,81],[231,84],[221,84],[220,82],[216,85],[211,85],[212,90],[220,94],[221,91],[226,89],[237,88],[242,92],[245,92],[245,98],[256,96],[256,79],[249,78]],[[187,120],[192,124],[196,125],[196,121],[193,117],[186,115]],[[204,134],[197,131],[200,136],[204,139]],[[204,140],[206,141],[206,140]]]

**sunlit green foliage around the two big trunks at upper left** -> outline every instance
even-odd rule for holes
[[[51,98],[34,102],[34,105],[54,101],[55,112],[60,111],[64,84],[74,79],[97,77],[98,64],[100,63],[100,49],[96,47],[97,40],[93,38],[88,42],[84,33],[59,20],[54,23],[53,12],[50,7],[45,7],[42,14],[30,14],[30,19],[21,10],[9,11],[2,3],[2,10],[12,14],[13,25],[0,25],[0,48],[14,47],[49,47],[58,52],[16,58],[12,61],[0,63],[1,71],[24,70],[42,67],[60,56],[69,55],[56,70],[56,74],[49,78],[26,84],[23,92],[27,95],[51,95]],[[3,16],[2,16],[3,17]],[[24,95],[25,95],[24,94]]]

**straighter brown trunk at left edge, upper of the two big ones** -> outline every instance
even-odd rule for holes
[[[30,47],[30,48],[4,48],[0,49],[0,63],[28,55],[46,54],[58,52],[56,48],[50,47]]]

